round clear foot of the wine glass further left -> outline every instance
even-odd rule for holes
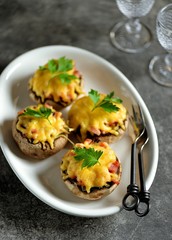
[[[137,53],[148,48],[152,42],[152,34],[149,28],[140,23],[138,32],[127,30],[128,21],[119,22],[110,31],[112,44],[121,51]]]

